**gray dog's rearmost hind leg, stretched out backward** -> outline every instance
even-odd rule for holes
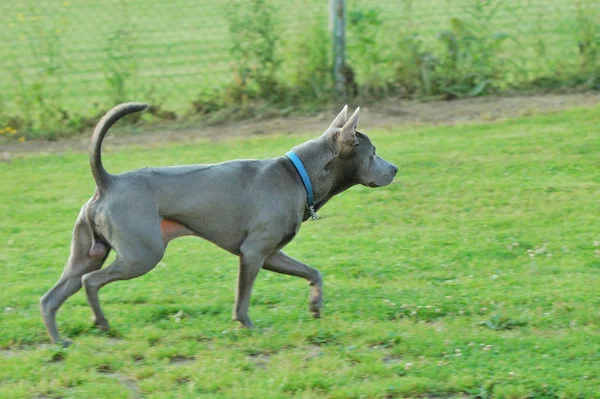
[[[42,318],[52,343],[59,342],[58,329],[56,327],[56,312],[65,300],[81,288],[81,277],[89,272],[98,270],[108,256],[109,249],[104,247],[104,253],[96,252],[90,255],[93,245],[91,229],[86,225],[87,221],[82,211],[73,229],[71,241],[71,254],[60,279],[40,300]],[[101,244],[99,244],[101,245]],[[98,245],[96,246],[98,247]],[[64,341],[63,345],[68,345]]]

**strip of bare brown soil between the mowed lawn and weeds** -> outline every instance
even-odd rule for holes
[[[454,101],[414,102],[389,99],[361,107],[361,125],[368,130],[420,124],[489,122],[535,113],[556,112],[600,103],[599,93],[547,94],[519,97],[479,97]],[[161,143],[192,143],[268,134],[321,133],[337,110],[307,116],[245,120],[218,126],[154,126],[143,133],[115,129],[107,136],[108,150],[123,146],[152,147]],[[89,134],[58,141],[0,144],[0,162],[23,153],[88,151]]]

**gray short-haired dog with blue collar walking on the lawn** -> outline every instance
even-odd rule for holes
[[[104,136],[120,118],[144,108],[146,104],[121,104],[94,130],[90,164],[97,188],[75,222],[71,255],[62,276],[40,301],[52,342],[61,342],[58,308],[82,285],[95,324],[106,330],[98,290],[148,273],[169,241],[186,235],[202,237],[239,256],[233,319],[243,326],[252,327],[248,306],[261,268],[308,280],[310,310],[319,317],[321,274],[281,249],[303,221],[317,218],[315,212],[334,195],[356,184],[385,186],[398,172],[377,156],[365,134],[356,131],[359,109],[347,119],[344,107],[325,133],[286,156],[109,174],[100,155]],[[101,269],[111,248],[117,257]]]

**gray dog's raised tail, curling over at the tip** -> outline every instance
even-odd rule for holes
[[[92,167],[92,175],[94,176],[94,180],[96,180],[96,186],[100,193],[106,189],[111,178],[110,173],[102,166],[102,140],[104,140],[106,132],[125,115],[142,111],[147,106],[148,104],[144,103],[124,103],[117,105],[108,111],[96,125],[90,147],[90,166]]]

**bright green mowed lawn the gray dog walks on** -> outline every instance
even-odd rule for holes
[[[151,273],[83,292],[49,345],[38,300],[58,279],[94,184],[85,153],[0,164],[2,398],[598,398],[600,107],[368,132],[400,172],[355,187],[287,253],[325,278],[259,274],[231,321],[237,259],[170,244]],[[284,154],[304,136],[108,149],[113,173]],[[140,136],[143,141],[143,136]]]

